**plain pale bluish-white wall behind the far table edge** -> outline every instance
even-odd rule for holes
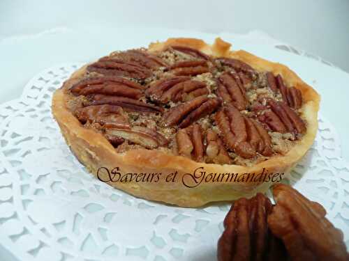
[[[348,14],[348,0],[1,0],[0,39],[85,25],[161,26],[206,33],[262,30],[349,72]]]

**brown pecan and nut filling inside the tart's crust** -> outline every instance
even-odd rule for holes
[[[292,134],[292,143],[306,132],[302,93],[281,75],[191,47],[114,52],[68,91],[78,120],[118,152],[165,147],[195,161],[248,164],[281,153],[270,135]]]

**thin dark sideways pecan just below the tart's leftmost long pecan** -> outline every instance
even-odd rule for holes
[[[162,112],[163,109],[152,104],[147,104],[138,100],[133,100],[127,97],[114,97],[97,94],[91,98],[91,102],[84,104],[84,106],[110,104],[121,106],[126,111],[139,111],[144,113],[158,113]]]

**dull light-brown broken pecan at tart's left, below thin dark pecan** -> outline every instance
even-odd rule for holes
[[[97,122],[103,128],[129,129],[130,122],[120,106],[96,105],[75,110],[75,116],[82,124]]]

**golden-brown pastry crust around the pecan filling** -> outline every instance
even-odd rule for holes
[[[302,139],[285,155],[278,155],[253,166],[238,166],[232,164],[205,164],[186,157],[170,155],[160,150],[135,149],[117,153],[105,137],[82,126],[67,107],[68,95],[64,89],[70,88],[84,74],[87,65],[77,70],[62,88],[53,96],[52,113],[57,120],[61,132],[75,156],[87,166],[89,171],[97,175],[98,168],[112,170],[119,167],[122,173],[163,173],[158,182],[107,182],[112,187],[124,190],[134,196],[147,200],[156,200],[183,207],[198,207],[209,202],[235,200],[242,196],[251,197],[257,192],[266,191],[271,182],[202,182],[200,185],[188,188],[182,178],[186,173],[203,167],[206,173],[262,173],[263,168],[269,173],[286,173],[311,147],[318,129],[318,108],[320,96],[285,65],[272,63],[248,52],[230,51],[230,44],[217,38],[214,45],[207,45],[202,40],[193,38],[170,38],[165,42],[149,45],[149,52],[158,52],[170,45],[181,45],[198,49],[214,57],[230,57],[242,60],[256,71],[270,71],[281,74],[288,86],[301,90],[303,105],[300,109],[302,118],[307,122],[307,129]],[[177,171],[174,182],[165,181],[165,175]]]

